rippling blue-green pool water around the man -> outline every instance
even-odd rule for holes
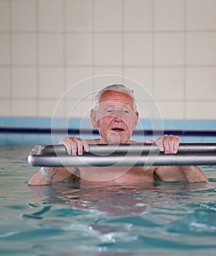
[[[31,146],[1,147],[0,255],[215,255],[209,183],[28,187]]]

